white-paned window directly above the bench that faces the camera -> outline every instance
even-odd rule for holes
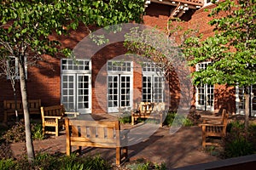
[[[164,73],[152,62],[143,63],[143,102],[164,102]]]

